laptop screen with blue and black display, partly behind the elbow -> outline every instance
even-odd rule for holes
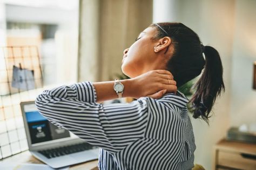
[[[37,111],[35,104],[25,104],[23,109],[26,124],[28,124],[31,144],[70,137],[69,131],[53,125],[43,117],[43,115]]]

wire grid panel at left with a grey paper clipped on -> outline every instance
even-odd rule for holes
[[[12,87],[14,66],[33,70],[35,89]],[[37,46],[0,47],[0,160],[28,150],[20,103],[35,100],[43,77]]]

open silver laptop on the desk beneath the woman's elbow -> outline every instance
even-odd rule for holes
[[[50,123],[38,112],[35,101],[22,102],[21,110],[29,151],[37,159],[52,168],[98,159],[99,147]]]

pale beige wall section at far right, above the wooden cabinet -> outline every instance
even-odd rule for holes
[[[236,1],[232,57],[231,125],[255,123],[256,90],[252,89],[256,61],[256,1]]]

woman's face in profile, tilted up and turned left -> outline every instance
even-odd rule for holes
[[[160,40],[152,40],[156,31],[152,26],[146,28],[137,41],[124,50],[122,71],[126,76],[133,78],[150,70],[166,69],[167,60],[160,57],[163,53],[154,51],[154,46],[161,45]]]

